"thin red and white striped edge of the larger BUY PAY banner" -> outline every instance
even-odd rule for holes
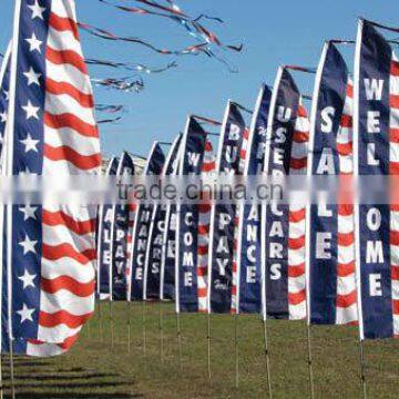
[[[239,164],[238,164],[238,174],[244,174],[245,168],[245,160],[248,153],[248,142],[249,142],[249,130],[245,129],[243,133],[243,143],[242,149],[239,150]],[[238,276],[238,265],[237,265],[237,250],[238,250],[238,217],[239,217],[241,206],[238,205],[236,208],[236,216],[234,219],[234,253],[233,253],[233,280],[232,280],[232,308],[231,313],[235,314],[238,309],[238,284],[239,284],[239,276]]]

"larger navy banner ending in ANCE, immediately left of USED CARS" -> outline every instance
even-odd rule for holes
[[[266,149],[267,116],[272,91],[263,85],[256,102],[247,149],[242,151],[244,176],[260,175]],[[237,238],[237,313],[260,313],[260,204],[239,205]]]

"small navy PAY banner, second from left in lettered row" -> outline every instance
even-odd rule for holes
[[[116,178],[127,184],[134,175],[134,163],[127,152],[123,152],[117,165]],[[111,300],[126,300],[127,295],[127,237],[129,237],[129,204],[115,204],[111,227]]]

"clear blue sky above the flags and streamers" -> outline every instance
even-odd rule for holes
[[[33,0],[28,0],[32,1]],[[110,0],[137,6],[134,0]],[[170,20],[153,16],[126,14],[98,0],[76,0],[81,22],[104,28],[120,35],[139,37],[155,45],[182,49],[194,44],[185,31]],[[101,125],[104,156],[123,150],[146,155],[154,140],[170,142],[183,131],[187,114],[222,121],[228,99],[248,109],[260,84],[273,84],[280,64],[317,66],[326,39],[355,39],[358,17],[399,27],[398,0],[175,0],[191,16],[222,18],[224,24],[206,22],[225,43],[244,43],[237,54],[223,53],[238,73],[229,73],[219,62],[204,55],[168,57],[137,44],[108,42],[81,32],[86,58],[162,66],[176,61],[178,68],[162,74],[144,75],[140,93],[94,88],[99,104],[124,104],[126,112],[117,124]],[[0,0],[0,51],[11,35],[14,0]],[[399,35],[399,34],[398,34]],[[352,47],[344,49],[350,65]],[[121,78],[127,71],[90,68],[92,78]],[[311,94],[314,75],[294,72],[304,94]],[[307,104],[309,105],[309,104]],[[98,115],[99,119],[106,115]],[[248,120],[248,115],[245,115]],[[215,127],[213,127],[215,130]]]

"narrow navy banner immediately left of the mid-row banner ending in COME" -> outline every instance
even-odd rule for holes
[[[182,151],[182,140],[178,144],[176,157],[171,165],[171,176],[178,173],[178,164]],[[177,206],[167,204],[165,212],[165,229],[163,235],[162,259],[161,259],[161,300],[175,299],[175,256],[176,256],[176,228]]]

